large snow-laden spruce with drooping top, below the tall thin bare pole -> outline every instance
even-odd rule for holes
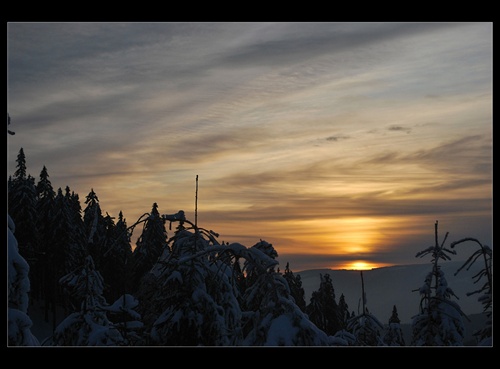
[[[172,244],[147,273],[137,295],[150,345],[232,346],[241,339],[241,313],[232,269],[220,259],[227,251],[215,233],[185,219],[184,212],[162,216],[179,222]],[[186,228],[185,225],[191,227]]]

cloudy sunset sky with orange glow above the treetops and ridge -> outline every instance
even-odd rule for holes
[[[132,225],[194,220],[198,175],[198,224],[293,271],[430,262],[436,221],[492,246],[492,28],[8,23],[7,176],[23,148]]]

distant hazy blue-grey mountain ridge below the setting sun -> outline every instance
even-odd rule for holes
[[[477,290],[484,283],[480,281],[474,284],[472,279],[484,266],[478,260],[470,270],[463,269],[455,276],[455,272],[463,264],[463,261],[442,261],[439,265],[444,272],[448,286],[459,298],[452,298],[452,300],[457,302],[467,315],[482,313],[483,306],[477,300],[479,294],[467,296],[467,293]],[[401,323],[411,323],[412,317],[419,312],[421,299],[418,291],[413,291],[418,290],[424,284],[425,277],[431,270],[430,262],[364,270],[366,306],[370,313],[385,324],[391,316],[393,306],[396,305]],[[310,269],[295,272],[294,274],[300,275],[302,280],[306,304],[309,304],[312,292],[319,289],[319,275],[326,273],[332,278],[336,301],[338,302],[340,295],[344,294],[349,311],[357,314],[361,299],[359,270]]]

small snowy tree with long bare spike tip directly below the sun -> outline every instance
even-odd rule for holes
[[[352,316],[347,322],[347,331],[356,337],[357,346],[383,346],[381,337],[383,324],[368,311],[366,306],[367,299],[365,293],[365,283],[363,280],[363,271],[361,275],[361,313]],[[358,309],[359,310],[359,309]]]

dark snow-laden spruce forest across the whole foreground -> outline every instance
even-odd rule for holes
[[[8,177],[9,346],[462,346],[467,317],[439,265],[462,243],[477,251],[457,273],[484,265],[470,292],[487,317],[476,344],[492,345],[492,249],[475,238],[449,243],[437,221],[435,244],[416,255],[429,258],[429,273],[405,342],[397,306],[382,322],[362,289],[353,309],[328,274],[305,301],[300,276],[288,264],[280,270],[265,240],[219,241],[157,203],[129,225],[122,212],[103,211],[93,189],[82,204],[69,186],[52,187],[45,166],[32,177],[22,148],[16,163]],[[363,278],[360,271],[361,286]],[[35,303],[53,324],[43,341],[31,331]]]

